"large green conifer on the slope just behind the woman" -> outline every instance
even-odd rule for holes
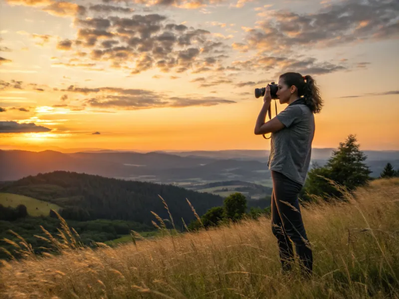
[[[302,199],[309,200],[305,193],[341,197],[341,192],[320,176],[345,186],[349,191],[367,184],[372,171],[364,163],[367,156],[359,147],[356,136],[349,135],[345,142],[340,143],[339,148],[333,151],[325,166],[316,165],[311,169],[301,192]]]

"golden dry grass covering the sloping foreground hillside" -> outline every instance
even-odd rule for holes
[[[270,219],[260,218],[116,248],[58,245],[58,256],[3,262],[0,298],[399,298],[399,179],[347,197],[302,209],[310,281],[280,273]]]

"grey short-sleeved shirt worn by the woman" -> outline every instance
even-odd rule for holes
[[[276,117],[285,128],[271,135],[267,165],[303,185],[315,133],[313,112],[306,105],[288,105]]]

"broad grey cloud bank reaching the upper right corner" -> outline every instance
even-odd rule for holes
[[[397,38],[398,14],[397,0],[337,1],[309,13],[267,11],[258,29],[248,31],[246,44],[249,49],[279,52]]]

